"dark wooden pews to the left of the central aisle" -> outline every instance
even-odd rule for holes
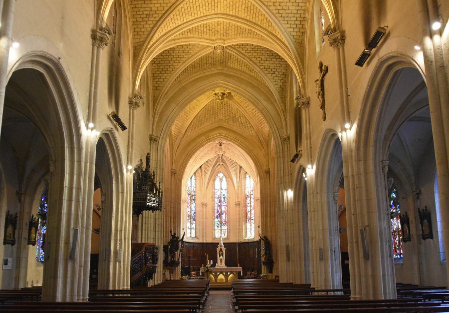
[[[89,302],[5,302],[0,312],[201,312],[209,280],[173,280],[129,290],[91,290]]]

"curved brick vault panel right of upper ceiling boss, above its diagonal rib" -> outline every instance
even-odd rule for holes
[[[255,44],[239,43],[232,45],[250,57],[270,78],[285,103],[285,85],[290,65],[276,52]]]

